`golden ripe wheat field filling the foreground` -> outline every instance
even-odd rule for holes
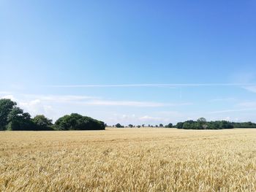
[[[3,131],[0,191],[256,191],[256,129]]]

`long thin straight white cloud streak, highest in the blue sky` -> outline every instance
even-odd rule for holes
[[[197,87],[197,86],[256,86],[255,83],[152,83],[152,84],[95,84],[46,85],[49,88],[135,88],[135,87]]]

